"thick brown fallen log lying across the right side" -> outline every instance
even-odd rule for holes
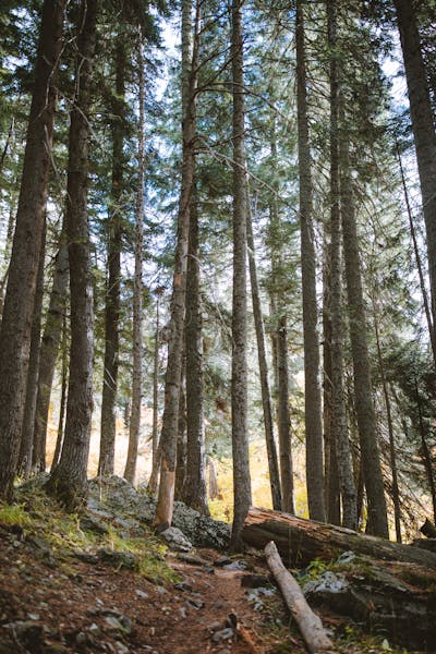
[[[412,562],[436,569],[436,554],[433,552],[269,509],[250,509],[242,538],[258,549],[274,541],[283,561],[290,566],[304,567],[316,558],[330,561],[343,552],[352,550],[375,559]]]

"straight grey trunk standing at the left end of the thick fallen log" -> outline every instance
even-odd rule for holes
[[[252,504],[246,387],[246,172],[242,0],[232,0],[233,96],[233,302],[232,302],[232,452],[233,524],[230,546],[242,546],[241,531]]]

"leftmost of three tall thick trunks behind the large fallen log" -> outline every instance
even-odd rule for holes
[[[323,421],[319,388],[318,311],[316,306],[316,253],[313,229],[312,160],[308,136],[304,15],[296,1],[296,111],[299,132],[301,277],[304,336],[304,423],[306,436],[306,486],[312,520],[325,522]]]

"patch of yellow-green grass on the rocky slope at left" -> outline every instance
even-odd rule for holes
[[[141,537],[128,537],[109,520],[107,533],[88,531],[81,526],[78,514],[65,513],[40,489],[19,492],[17,504],[0,504],[0,525],[20,532],[21,540],[57,566],[71,569],[77,554],[85,554],[112,568],[133,570],[153,583],[179,580],[166,562],[167,547],[146,525]]]

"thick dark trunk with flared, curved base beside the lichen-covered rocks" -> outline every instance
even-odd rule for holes
[[[93,412],[94,306],[87,217],[88,134],[97,0],[82,0],[77,22],[76,98],[71,110],[66,235],[71,293],[71,354],[65,436],[59,464],[47,489],[68,509],[87,494],[87,461]]]

